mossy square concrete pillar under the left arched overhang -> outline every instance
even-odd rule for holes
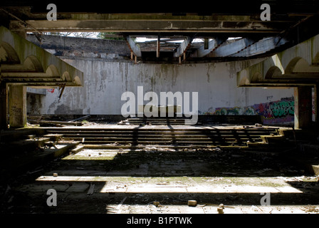
[[[9,87],[10,128],[23,128],[26,125],[26,86]]]

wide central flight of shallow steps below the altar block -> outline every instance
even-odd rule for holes
[[[49,128],[47,133],[61,134],[65,140],[83,145],[194,145],[245,146],[262,142],[260,135],[278,135],[276,128]]]

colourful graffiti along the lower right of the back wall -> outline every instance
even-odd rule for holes
[[[261,115],[263,124],[292,125],[294,121],[295,101],[293,98],[250,105],[247,107],[216,108],[214,113],[206,115]]]

